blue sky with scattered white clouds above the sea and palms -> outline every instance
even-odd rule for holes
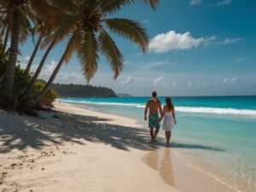
[[[255,0],[160,0],[156,11],[142,3],[125,7],[111,17],[140,21],[150,37],[148,53],[112,35],[124,55],[123,73],[113,80],[101,56],[90,84],[132,96],[150,96],[152,90],[159,96],[256,95],[255,10]],[[51,52],[40,78],[49,79],[66,44]],[[20,46],[21,67],[33,46],[31,40]],[[55,83],[86,84],[76,55],[61,67]]]

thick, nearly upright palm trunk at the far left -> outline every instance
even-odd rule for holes
[[[6,71],[4,74],[3,90],[12,96],[15,82],[15,65],[17,61],[19,40],[20,40],[20,15],[21,5],[17,5],[13,12],[13,23],[11,32],[11,44],[9,52],[9,60],[6,65]]]

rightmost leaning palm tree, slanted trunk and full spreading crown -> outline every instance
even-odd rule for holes
[[[61,30],[69,32],[69,40],[61,60],[55,67],[55,71],[49,78],[38,95],[33,96],[26,105],[32,107],[37,104],[42,96],[49,90],[55,76],[59,72],[62,64],[69,61],[73,53],[77,53],[81,63],[82,71],[87,83],[90,82],[96,73],[98,67],[99,52],[105,55],[113,70],[113,79],[117,79],[123,69],[123,55],[120,53],[113,38],[108,31],[115,33],[123,38],[131,40],[145,53],[148,50],[148,35],[141,24],[134,20],[112,18],[108,15],[119,11],[122,7],[136,1],[117,0],[117,1],[70,1],[68,4],[67,15],[61,15],[64,23],[60,23]],[[144,3],[150,3],[154,8],[154,3],[158,1],[148,0]],[[55,0],[57,6],[61,6],[60,1]],[[65,8],[62,8],[65,9]],[[68,25],[67,25],[68,23]],[[108,31],[107,31],[108,30]]]

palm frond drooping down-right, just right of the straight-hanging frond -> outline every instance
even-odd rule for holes
[[[123,70],[123,55],[105,30],[102,29],[98,39],[100,50],[112,67],[113,79],[117,79]]]

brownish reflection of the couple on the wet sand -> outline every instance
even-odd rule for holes
[[[145,157],[145,162],[148,166],[160,172],[160,176],[164,179],[165,183],[175,186],[171,148],[151,150]]]

